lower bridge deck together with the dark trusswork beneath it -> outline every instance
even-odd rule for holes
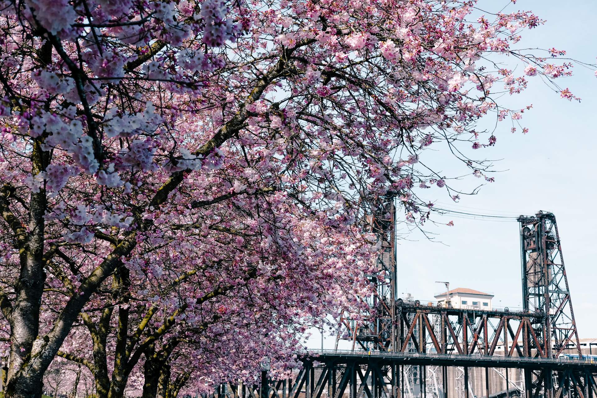
[[[410,354],[384,351],[315,350],[303,353],[303,368],[288,380],[264,379],[265,388],[257,385],[221,385],[205,398],[389,398],[405,396],[407,366],[462,366],[526,369],[543,375],[559,375],[555,398],[597,396],[594,375],[597,363],[586,359],[542,357],[486,356],[460,354]],[[506,371],[507,375],[507,371]],[[444,397],[447,388],[444,378]],[[424,379],[421,378],[424,384]],[[424,387],[424,386],[423,386]],[[485,397],[506,396],[506,391]],[[423,389],[422,391],[426,391]],[[509,396],[512,391],[508,391]],[[537,392],[537,391],[535,391]],[[424,394],[424,392],[423,392]],[[536,396],[536,395],[535,395]]]

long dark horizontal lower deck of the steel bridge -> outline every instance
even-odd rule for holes
[[[468,366],[519,369],[582,369],[597,374],[597,362],[591,359],[565,359],[516,356],[451,355],[396,353],[387,351],[309,350],[304,359],[315,362],[359,363],[380,365]]]

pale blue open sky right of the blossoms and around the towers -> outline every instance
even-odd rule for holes
[[[503,4],[485,0],[481,6],[495,10],[498,3]],[[596,1],[518,0],[504,11],[516,10],[533,10],[547,20],[545,25],[525,31],[519,48],[555,47],[566,50],[571,58],[595,63]],[[496,169],[504,171],[493,175],[495,183],[457,205],[464,211],[513,215],[534,214],[540,209],[553,212],[579,335],[597,339],[597,78],[592,70],[575,67],[574,76],[558,81],[581,97],[581,103],[563,100],[539,78],[529,79],[527,91],[505,96],[501,104],[516,109],[532,103],[533,109],[521,120],[530,132],[511,134],[511,125],[498,124],[497,145],[483,155],[502,159]],[[450,202],[437,191],[436,202]],[[521,307],[518,223],[438,218],[445,223],[450,220],[453,227],[431,228],[438,234],[435,243],[417,233],[399,241],[398,293],[433,300],[433,295],[444,289],[435,281],[445,280],[451,288],[491,292],[496,307]],[[310,339],[309,346],[319,347],[319,335]]]

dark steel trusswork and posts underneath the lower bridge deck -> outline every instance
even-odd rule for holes
[[[202,394],[203,398],[405,398],[404,357],[334,356],[303,357],[303,368],[296,376],[287,380],[269,380],[264,388],[259,385],[227,383],[220,385],[213,394]],[[554,398],[597,397],[595,364],[558,365],[544,367],[533,365],[543,375],[558,375],[553,386]],[[442,366],[445,369],[445,366]],[[464,382],[468,384],[467,367],[464,367]],[[486,368],[488,369],[488,368]],[[444,378],[445,382],[445,378]],[[426,397],[424,385],[421,396]],[[470,388],[465,396],[471,397]],[[451,398],[444,389],[443,398]],[[534,391],[538,397],[540,391]],[[484,398],[513,397],[510,389],[490,394]],[[479,397],[480,398],[480,397]]]

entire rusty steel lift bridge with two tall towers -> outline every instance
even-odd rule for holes
[[[538,212],[517,220],[522,311],[454,308],[449,292],[442,306],[421,305],[396,297],[394,198],[380,200],[362,220],[381,244],[377,274],[368,276],[375,292],[361,298],[371,312],[359,319],[340,317],[336,348],[344,338],[352,350],[302,353],[303,367],[290,380],[269,380],[263,368],[260,386],[221,385],[213,397],[427,398],[429,392],[430,398],[472,398],[472,368],[485,370],[484,398],[597,396],[597,363],[581,352],[555,216]],[[565,350],[576,352],[577,359],[562,356]],[[449,368],[462,375],[455,397],[448,396]],[[505,390],[490,393],[490,369],[499,369]],[[510,388],[512,369],[522,369],[521,387]],[[408,392],[413,382],[417,397]]]

